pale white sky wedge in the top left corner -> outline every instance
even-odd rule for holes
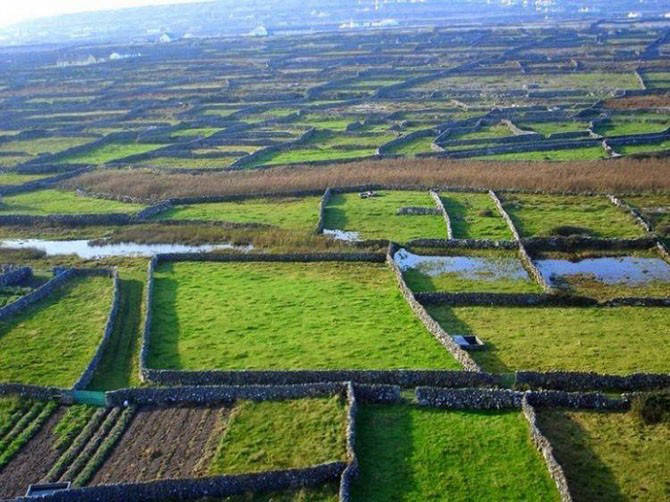
[[[72,12],[202,1],[207,0],[0,0],[0,26]]]

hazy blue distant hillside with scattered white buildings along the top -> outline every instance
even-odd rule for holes
[[[588,7],[584,7],[584,5]],[[70,14],[0,29],[1,45],[163,41],[181,37],[495,24],[545,19],[658,17],[667,0],[216,0]]]

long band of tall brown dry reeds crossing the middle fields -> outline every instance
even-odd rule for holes
[[[282,194],[363,184],[622,193],[670,190],[670,160],[624,158],[551,163],[394,159],[198,175],[103,170],[66,184],[70,188],[152,201],[203,195]]]

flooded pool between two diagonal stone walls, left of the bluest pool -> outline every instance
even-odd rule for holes
[[[402,271],[413,268],[430,277],[458,274],[465,279],[483,281],[529,279],[521,262],[511,257],[422,256],[400,249],[393,259]]]

